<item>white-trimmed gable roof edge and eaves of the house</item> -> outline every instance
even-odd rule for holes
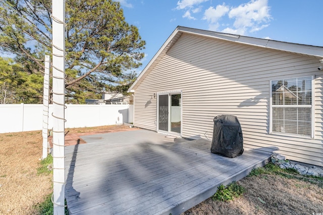
[[[155,67],[155,65],[159,62],[159,60],[165,56],[167,51],[176,43],[176,41],[181,37],[183,33],[193,34],[193,35],[208,37],[213,39],[221,39],[221,40],[231,41],[239,44],[280,50],[280,51],[289,52],[289,53],[296,53],[300,55],[315,57],[317,59],[323,59],[323,47],[320,47],[320,46],[281,42],[276,40],[260,39],[260,38],[254,38],[254,37],[247,37],[247,36],[241,36],[241,35],[235,35],[235,34],[226,34],[226,33],[178,26],[171,34],[171,36],[166,40],[163,46],[160,47],[157,53],[149,61],[146,67],[142,70],[142,72],[137,77],[136,81],[128,89],[128,92],[135,91],[137,86],[150,73],[150,71]]]

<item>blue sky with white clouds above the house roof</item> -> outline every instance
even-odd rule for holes
[[[323,0],[122,0],[148,64],[177,26],[323,46]]]

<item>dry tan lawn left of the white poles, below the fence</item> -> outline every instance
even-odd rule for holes
[[[41,131],[0,134],[0,214],[34,214],[51,192],[51,176],[37,174]]]

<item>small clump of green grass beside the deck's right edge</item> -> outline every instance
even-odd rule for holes
[[[246,189],[237,182],[232,182],[228,186],[221,184],[217,192],[212,196],[212,200],[231,201],[241,196],[245,191]]]

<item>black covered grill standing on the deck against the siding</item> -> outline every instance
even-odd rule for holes
[[[236,116],[220,115],[213,119],[211,153],[234,158],[243,153],[241,125]]]

